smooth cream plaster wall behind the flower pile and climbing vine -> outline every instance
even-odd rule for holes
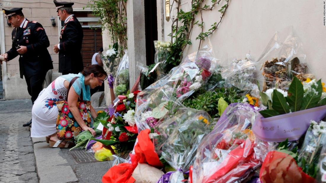
[[[160,2],[157,0],[157,3]],[[185,11],[189,9],[187,2],[181,1]],[[205,2],[211,4],[210,1]],[[219,21],[220,13],[217,10],[221,6],[214,11],[203,13],[204,30],[208,30],[210,25]],[[165,7],[163,8],[165,12]],[[160,9],[158,11],[160,12]],[[163,37],[170,40],[168,34],[171,32],[171,20],[169,22],[165,20],[165,13],[163,17]],[[200,14],[197,17],[195,22],[200,20]],[[158,19],[158,24],[161,20]],[[301,39],[309,65],[316,77],[326,82],[326,26],[323,25],[321,0],[230,0],[227,13],[218,30],[208,38],[213,45],[215,56],[222,59],[222,64],[225,65],[228,62],[226,58],[229,58],[229,61],[231,58],[241,59],[249,52],[253,58],[258,59],[274,33],[289,26],[293,26]],[[199,41],[195,41],[195,37],[199,33],[200,29],[194,26],[191,34],[192,45],[186,47],[185,55],[198,49]],[[203,44],[207,44],[207,40]]]

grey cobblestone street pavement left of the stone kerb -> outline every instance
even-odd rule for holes
[[[30,132],[30,99],[0,101],[0,183],[38,182]]]

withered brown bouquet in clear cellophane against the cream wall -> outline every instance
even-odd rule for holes
[[[275,87],[287,91],[293,77],[300,81],[314,78],[314,75],[308,74],[307,59],[299,38],[292,30],[286,34],[281,41],[279,37],[282,34],[275,33],[258,59],[258,63],[262,64],[263,78],[259,80],[263,81],[263,91]]]

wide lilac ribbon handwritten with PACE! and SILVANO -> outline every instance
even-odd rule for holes
[[[310,126],[310,120],[319,122],[326,116],[326,106],[264,118],[260,114],[252,126],[255,136],[265,141],[298,140]]]

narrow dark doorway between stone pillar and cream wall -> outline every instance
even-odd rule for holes
[[[145,0],[145,39],[146,39],[146,64],[154,63],[154,41],[157,40],[157,15],[156,1]]]

